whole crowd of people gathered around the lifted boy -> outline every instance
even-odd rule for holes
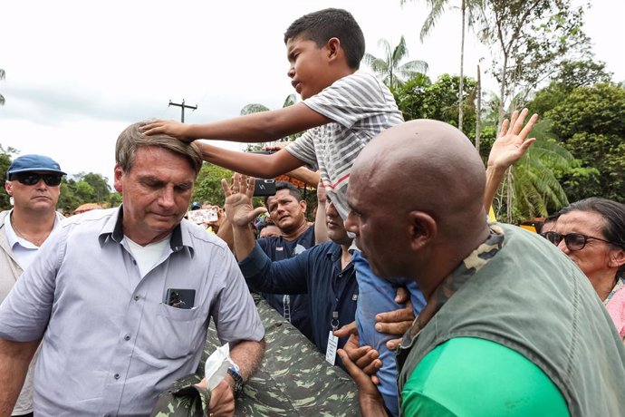
[[[302,102],[131,124],[115,148],[118,208],[63,219],[59,163],[15,158],[0,213],[0,415],[149,415],[197,370],[211,321],[227,370],[197,383],[199,412],[234,415],[263,364],[254,293],[351,375],[362,415],[620,415],[625,206],[574,202],[540,234],[488,222],[536,115],[511,115],[485,167],[453,126],[403,121],[359,70],[349,12],[303,15],[284,44]],[[267,154],[209,143],[301,131]],[[223,208],[191,202],[204,161],[236,172]],[[313,223],[288,182],[254,206],[255,178],[303,166],[318,172]]]

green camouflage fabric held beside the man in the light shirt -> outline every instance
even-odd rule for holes
[[[351,377],[326,363],[316,346],[263,299],[255,301],[265,328],[266,352],[259,369],[236,400],[236,416],[360,415],[358,391]],[[179,380],[178,386],[199,381],[207,357],[219,345],[216,328],[211,324],[197,375]],[[188,397],[177,397],[173,391],[172,387],[159,397],[153,416],[201,415],[193,413],[197,412],[200,396],[195,389],[195,393],[187,392]]]

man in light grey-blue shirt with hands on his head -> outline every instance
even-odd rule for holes
[[[120,134],[120,208],[69,218],[0,306],[0,414],[36,346],[37,415],[147,415],[197,369],[212,317],[236,364],[207,411],[232,413],[264,354],[264,328],[226,244],[183,219],[199,150],[140,123]]]

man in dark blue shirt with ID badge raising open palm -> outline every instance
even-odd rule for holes
[[[297,257],[272,262],[255,242],[254,234],[249,228],[249,222],[264,211],[264,208],[252,207],[254,179],[247,183],[245,176],[237,174],[232,189],[226,184],[224,188],[226,213],[233,225],[236,256],[248,286],[257,291],[309,294],[312,342],[333,364],[336,344],[342,347],[349,334],[337,339],[330,332],[353,323],[358,301],[358,283],[351,264],[351,253],[348,251],[351,238],[347,236],[332,201],[328,199],[325,204],[325,223],[331,241],[312,247]],[[400,311],[382,315],[383,320],[388,322],[381,323],[382,331],[402,334],[399,323],[410,323],[414,318],[411,312],[412,306],[408,304]],[[405,315],[410,317],[404,317]],[[336,360],[342,365],[338,357]]]

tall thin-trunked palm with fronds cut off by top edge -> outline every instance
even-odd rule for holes
[[[407,0],[400,0],[400,4],[404,5]],[[426,0],[430,6],[429,15],[426,17],[423,26],[421,26],[420,40],[423,40],[432,31],[437,23],[440,15],[443,14],[449,0]],[[463,102],[463,83],[465,73],[465,33],[466,24],[473,25],[476,14],[482,11],[484,0],[461,0],[460,11],[462,14],[462,35],[460,38],[460,85],[458,86],[458,129],[462,131],[462,102]],[[466,18],[468,17],[468,22]]]

